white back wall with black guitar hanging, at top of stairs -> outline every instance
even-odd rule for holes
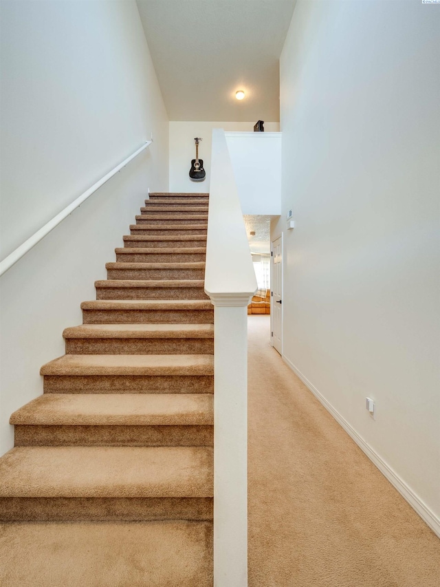
[[[212,129],[225,131],[253,131],[254,122],[175,122],[170,121],[170,191],[208,192],[210,184]],[[265,131],[279,131],[279,122],[265,122]],[[203,138],[199,158],[206,171],[204,182],[189,178],[191,160],[195,158],[195,137]]]

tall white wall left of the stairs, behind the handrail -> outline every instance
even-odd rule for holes
[[[154,137],[1,278],[3,452],[148,187],[168,189],[168,117],[134,1],[2,1],[0,54],[2,258]]]

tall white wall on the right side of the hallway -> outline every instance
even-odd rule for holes
[[[298,1],[281,56],[283,215],[272,229],[273,237],[285,231],[293,206],[286,361],[389,478],[394,471],[432,527],[440,514],[439,30],[436,5]]]

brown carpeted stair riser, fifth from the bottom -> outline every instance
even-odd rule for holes
[[[84,324],[213,324],[214,310],[83,310]]]

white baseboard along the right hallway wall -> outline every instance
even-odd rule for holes
[[[388,479],[388,481],[399,491],[400,495],[410,504],[410,506],[417,511],[423,522],[426,522],[430,529],[440,537],[440,519],[428,508],[428,506],[419,498],[418,495],[408,487],[408,485],[401,479],[395,471],[374,451],[365,440],[359,436],[353,427],[343,418],[340,413],[326,400],[318,389],[310,383],[295,365],[283,355],[283,361],[286,363],[292,371],[298,375],[301,381],[310,389],[311,393],[322,403],[328,412],[335,418],[335,420],[342,426],[342,428],[353,438],[355,443],[360,447],[362,451],[368,456],[368,458],[374,463],[377,469],[380,470],[382,475]]]

